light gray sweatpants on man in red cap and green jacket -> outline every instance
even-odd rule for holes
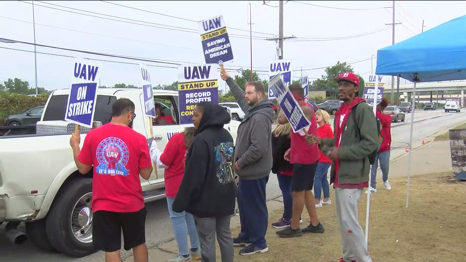
[[[367,252],[363,228],[357,220],[357,204],[361,201],[362,193],[362,188],[335,188],[336,215],[340,222],[345,262],[372,262]]]

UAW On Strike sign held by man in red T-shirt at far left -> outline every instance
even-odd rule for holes
[[[99,76],[98,63],[84,59],[75,62],[65,120],[92,128]]]

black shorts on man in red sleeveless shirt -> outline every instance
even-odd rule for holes
[[[312,190],[314,186],[314,175],[318,162],[311,165],[293,164],[293,179],[291,180],[291,191],[300,192]]]

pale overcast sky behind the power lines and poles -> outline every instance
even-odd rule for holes
[[[198,25],[195,21],[223,15],[234,55],[233,62],[226,63],[227,68],[250,67],[248,1],[110,0],[109,2],[126,7],[103,1],[34,1],[36,43],[156,59],[165,63],[144,62],[148,65],[160,66],[149,66],[152,84],[168,84],[178,80],[177,64],[205,62],[197,32]],[[269,63],[276,59],[278,46],[275,41],[266,41],[265,38],[278,35],[279,1],[266,2],[267,5],[263,5],[263,1],[251,1],[252,30],[257,32],[253,33],[253,69],[262,71],[268,71]],[[391,25],[385,26],[385,24],[392,21],[392,1],[284,2],[284,35],[297,37],[295,40],[285,41],[283,50],[284,59],[292,59],[292,68],[296,70],[292,73],[294,78],[301,76],[301,68],[303,75],[316,78],[323,74],[324,69],[315,68],[333,65],[337,61],[347,61],[356,62],[351,65],[356,73],[362,74],[367,81],[371,71],[371,55],[376,55],[377,49],[391,44]],[[429,30],[464,15],[466,2],[396,1],[395,10],[396,22],[402,23],[395,27],[395,42],[399,42],[419,34],[423,20],[425,20],[424,30]],[[0,1],[0,38],[33,43],[32,21],[31,1]],[[355,37],[335,40],[347,36]],[[0,83],[8,78],[17,77],[27,80],[30,86],[34,87],[34,53],[6,48],[34,51],[33,45],[0,42]],[[124,62],[102,62],[101,85],[113,86],[116,83],[141,85],[138,61],[47,47],[37,47],[37,52],[71,56],[37,54],[38,86],[48,90],[69,88],[74,69],[72,57]],[[357,62],[362,60],[365,61]],[[376,60],[377,58],[373,59],[374,72]],[[262,78],[267,78],[267,72],[259,73],[264,74],[261,75]]]

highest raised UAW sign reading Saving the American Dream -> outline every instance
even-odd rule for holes
[[[199,21],[198,27],[207,64],[233,60],[232,46],[226,33],[223,16]]]

